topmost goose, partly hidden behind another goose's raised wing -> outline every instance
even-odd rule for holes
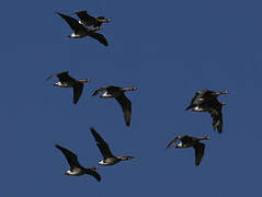
[[[96,27],[96,26],[101,26],[103,23],[109,23],[111,22],[111,20],[104,18],[104,16],[92,16],[90,14],[88,14],[88,12],[84,10],[84,11],[78,11],[78,12],[75,12],[75,14],[78,15],[78,18],[80,19],[79,23],[80,24],[83,24],[86,26],[93,26],[93,27]]]

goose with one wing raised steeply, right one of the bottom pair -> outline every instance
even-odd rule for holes
[[[91,134],[96,141],[96,146],[101,154],[103,155],[103,160],[99,162],[99,165],[114,165],[121,161],[127,161],[133,159],[134,157],[123,155],[123,157],[114,157],[111,152],[109,144],[104,141],[104,139],[94,130],[93,127],[90,127]]]

